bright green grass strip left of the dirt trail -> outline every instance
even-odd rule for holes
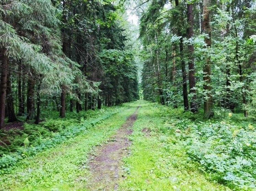
[[[104,119],[102,123],[84,129],[78,136],[67,139],[59,146],[23,159],[0,176],[0,190],[85,190],[86,177],[89,176],[86,166],[89,152],[107,141],[136,106],[136,103],[129,103],[117,107],[118,113]]]

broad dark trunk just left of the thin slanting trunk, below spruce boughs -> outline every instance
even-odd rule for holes
[[[35,80],[33,75],[30,74],[27,80],[27,119],[35,119],[35,100],[34,100],[34,92],[35,92]]]

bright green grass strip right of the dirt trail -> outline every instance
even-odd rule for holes
[[[130,137],[131,155],[124,159],[120,191],[230,190],[209,180],[203,166],[189,159],[175,127],[168,123],[171,113],[166,107],[146,101],[141,106]]]

